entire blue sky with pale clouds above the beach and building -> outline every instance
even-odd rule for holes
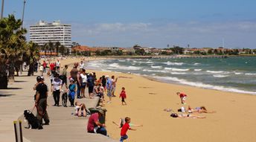
[[[21,19],[23,1],[5,0],[4,16]],[[71,24],[73,42],[89,46],[256,48],[255,5],[255,0],[26,0],[24,25],[60,20]]]

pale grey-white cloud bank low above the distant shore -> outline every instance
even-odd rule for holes
[[[256,22],[71,22],[72,40],[81,45],[165,48],[169,45],[217,48],[255,48]]]

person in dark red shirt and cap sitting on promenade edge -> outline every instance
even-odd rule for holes
[[[104,115],[104,111],[100,109],[97,113],[92,114],[89,117],[88,125],[87,125],[87,132],[89,133],[99,133],[101,135],[106,135],[106,125],[104,123],[100,123],[99,117]]]

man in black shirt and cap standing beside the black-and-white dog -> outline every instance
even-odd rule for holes
[[[35,106],[37,109],[36,117],[39,120],[39,123],[42,124],[42,118],[45,120],[45,125],[49,125],[47,108],[47,97],[48,97],[48,88],[47,85],[43,82],[42,77],[36,77],[38,84],[36,85],[36,102]]]

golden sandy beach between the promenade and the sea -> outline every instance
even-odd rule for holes
[[[127,106],[121,106],[118,97],[105,106],[108,110],[106,129],[116,140],[120,138],[120,129],[112,121],[131,117],[132,123],[143,124],[143,127],[129,131],[128,141],[256,141],[256,97],[253,95],[159,83],[133,74],[95,72],[97,78],[103,74],[120,77],[116,96],[121,87],[127,91]],[[188,94],[187,105],[180,103],[177,91]],[[173,109],[176,112],[188,105],[205,106],[217,113],[198,114],[205,119],[182,119],[170,117],[170,112],[163,111]]]

